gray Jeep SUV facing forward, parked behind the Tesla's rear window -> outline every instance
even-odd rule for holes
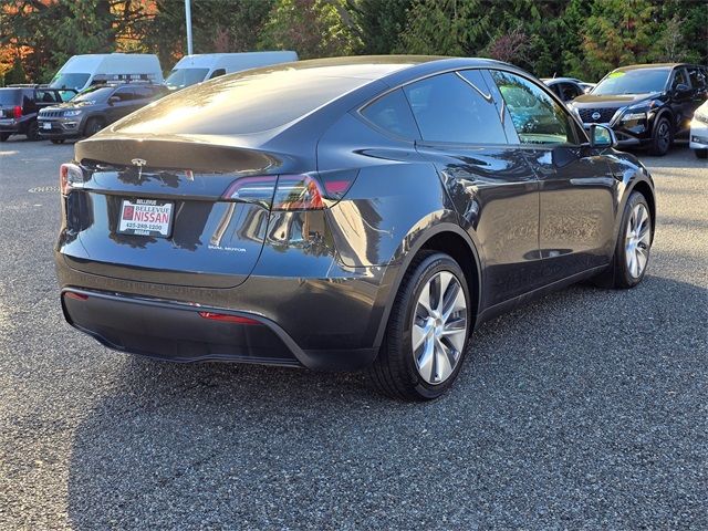
[[[43,108],[39,115],[40,136],[54,144],[92,136],[167,93],[164,85],[139,82],[94,85],[71,102]]]

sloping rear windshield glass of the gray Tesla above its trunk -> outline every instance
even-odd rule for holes
[[[369,82],[334,75],[335,69],[317,70],[261,70],[220,76],[139,110],[116,129],[131,134],[259,133],[289,124]]]

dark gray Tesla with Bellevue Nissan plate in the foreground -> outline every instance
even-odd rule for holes
[[[186,88],[61,167],[69,323],[119,351],[368,367],[439,396],[470,333],[645,274],[654,186],[509,64],[303,61]]]

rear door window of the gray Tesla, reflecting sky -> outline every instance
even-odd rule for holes
[[[507,144],[479,72],[436,75],[407,85],[405,92],[424,140]]]

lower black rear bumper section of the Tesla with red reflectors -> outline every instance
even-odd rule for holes
[[[376,355],[374,348],[302,350],[277,323],[249,312],[76,288],[62,290],[61,303],[69,324],[105,346],[170,362],[353,371],[371,364]],[[249,322],[205,319],[202,312]]]

